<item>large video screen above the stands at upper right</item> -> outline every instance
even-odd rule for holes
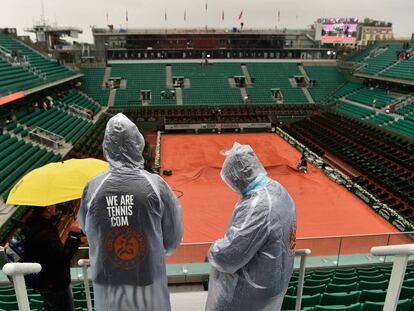
[[[320,40],[324,43],[355,43],[358,34],[357,18],[320,18]]]

